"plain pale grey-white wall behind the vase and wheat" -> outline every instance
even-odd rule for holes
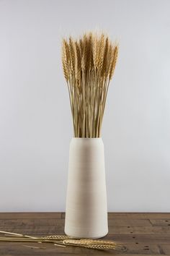
[[[102,137],[109,211],[170,211],[170,1],[0,1],[0,211],[65,210],[61,39],[120,42]]]

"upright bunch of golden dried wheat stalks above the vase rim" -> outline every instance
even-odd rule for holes
[[[102,33],[63,39],[63,74],[68,85],[74,137],[101,137],[109,81],[118,46]]]

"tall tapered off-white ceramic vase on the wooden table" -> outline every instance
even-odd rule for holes
[[[108,233],[102,138],[71,139],[65,233],[92,239]]]

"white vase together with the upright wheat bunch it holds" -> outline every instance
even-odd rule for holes
[[[107,234],[107,193],[102,120],[118,46],[104,33],[63,39],[63,74],[68,85],[73,138],[68,164],[65,232],[98,238]]]

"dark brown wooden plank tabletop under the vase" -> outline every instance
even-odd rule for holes
[[[0,255],[170,255],[170,213],[108,213],[109,234],[126,252],[55,247],[32,243],[0,242]],[[0,230],[30,235],[64,234],[64,213],[0,213]]]

